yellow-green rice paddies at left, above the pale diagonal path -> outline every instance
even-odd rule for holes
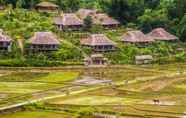
[[[13,72],[4,75],[0,77],[0,93],[6,97],[0,99],[0,105],[7,105],[8,102],[18,103],[26,99],[39,97],[32,96],[32,94],[64,87],[78,76],[78,72]],[[47,95],[53,94],[55,93],[48,93]]]

